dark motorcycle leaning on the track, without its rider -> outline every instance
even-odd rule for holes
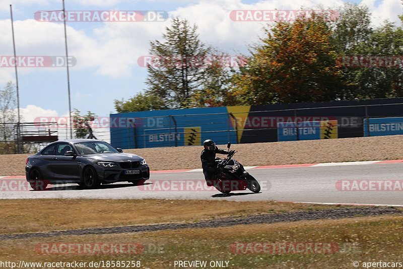
[[[228,151],[231,143],[227,144]],[[217,159],[217,173],[214,180],[214,187],[224,194],[233,190],[249,189],[255,193],[260,192],[259,182],[248,172],[243,165],[232,157],[237,151],[228,153],[227,158]]]

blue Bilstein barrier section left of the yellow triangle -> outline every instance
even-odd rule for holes
[[[129,112],[110,117],[111,144],[122,149],[197,146],[206,139],[216,144],[237,143],[227,107]]]

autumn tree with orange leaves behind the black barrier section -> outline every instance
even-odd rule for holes
[[[343,78],[328,23],[319,16],[277,22],[233,78],[239,104],[336,100]]]

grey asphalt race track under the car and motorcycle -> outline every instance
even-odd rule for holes
[[[76,184],[50,185],[46,191],[33,191],[24,179],[0,179],[0,198],[168,198],[225,199],[238,201],[277,200],[305,203],[375,204],[403,206],[403,190],[341,190],[340,180],[403,182],[403,164],[345,165],[248,170],[261,184],[260,193],[249,190],[221,194],[207,187],[203,173],[155,173],[144,185],[122,182],[82,189]],[[6,181],[7,183],[4,183]],[[338,183],[339,181],[339,183]],[[18,183],[20,182],[20,183]],[[25,183],[23,183],[25,182]],[[375,182],[375,183],[374,183]],[[397,182],[398,183],[398,182]],[[5,185],[6,184],[6,185]],[[9,184],[9,185],[7,185]],[[18,185],[20,184],[20,185]],[[339,185],[338,185],[339,184]],[[8,186],[11,186],[8,188]],[[337,187],[338,186],[338,187]],[[376,185],[377,186],[377,185]],[[375,189],[377,189],[375,187]]]

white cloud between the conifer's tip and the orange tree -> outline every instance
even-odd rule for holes
[[[262,35],[264,22],[232,21],[233,10],[299,10],[301,7],[315,8],[323,6],[320,0],[277,0],[260,1],[255,4],[243,4],[240,0],[202,0],[197,4],[179,8],[170,15],[188,19],[198,26],[200,37],[210,44],[226,49],[235,49],[245,53],[247,46]],[[329,0],[326,8],[342,5],[341,0]]]

